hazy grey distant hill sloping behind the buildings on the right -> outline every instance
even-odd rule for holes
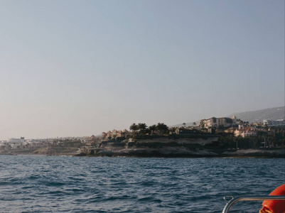
[[[285,107],[274,107],[269,109],[260,109],[257,111],[244,111],[230,114],[227,117],[237,116],[237,119],[249,121],[249,123],[262,122],[263,120],[285,119]]]

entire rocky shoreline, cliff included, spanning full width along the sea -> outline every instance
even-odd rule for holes
[[[66,155],[86,157],[136,158],[285,158],[285,148],[221,148],[215,137],[142,138],[124,141],[101,141],[96,147],[56,147],[1,150],[0,155]]]

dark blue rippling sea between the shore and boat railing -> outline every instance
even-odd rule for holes
[[[226,195],[268,195],[285,159],[0,155],[0,212],[222,212]],[[258,212],[239,202],[230,212]]]

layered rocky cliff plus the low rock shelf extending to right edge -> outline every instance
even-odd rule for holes
[[[225,150],[209,148],[217,137],[205,138],[144,138],[124,141],[103,141],[97,148],[82,148],[77,156],[157,157],[157,158],[285,158],[284,149]],[[213,143],[212,143],[213,144]]]

